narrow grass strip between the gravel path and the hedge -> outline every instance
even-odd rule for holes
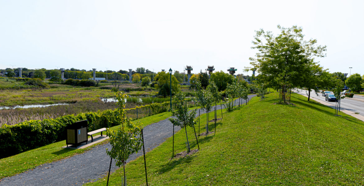
[[[140,121],[143,126],[158,122],[171,116],[171,112],[163,112],[153,116],[145,117],[142,119],[134,120],[136,123]],[[119,126],[111,127],[110,129],[117,129]],[[99,135],[95,134],[96,135]],[[75,154],[83,153],[89,150],[92,146],[85,149],[69,149],[62,146],[66,145],[66,140],[55,142],[40,148],[28,150],[17,154],[15,156],[0,159],[0,179],[3,177],[12,176],[24,172],[27,169],[35,168],[38,165],[54,162],[74,156]],[[95,146],[95,145],[93,145]],[[106,150],[105,150],[106,153]]]

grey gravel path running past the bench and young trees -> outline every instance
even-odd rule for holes
[[[249,95],[251,99],[255,95]],[[238,104],[238,100],[236,100]],[[244,100],[245,102],[245,100]],[[242,103],[241,103],[242,104]],[[216,109],[220,109],[218,105]],[[214,109],[214,108],[213,108]],[[197,111],[198,113],[198,111]],[[201,114],[206,113],[201,110]],[[143,129],[146,151],[153,150],[159,144],[172,136],[172,123],[168,119],[147,125]],[[175,127],[175,132],[180,127]],[[106,148],[111,148],[110,144],[98,145],[94,148],[72,156],[70,158],[43,164],[33,170],[27,170],[24,173],[14,175],[9,178],[0,180],[1,186],[68,186],[82,185],[107,175],[110,165],[110,157],[106,154]],[[142,149],[143,150],[143,149]],[[135,160],[138,156],[143,155],[143,151],[138,154],[132,154],[127,162]],[[114,172],[118,167],[113,160],[111,171]]]

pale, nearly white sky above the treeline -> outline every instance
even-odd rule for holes
[[[0,69],[246,74],[255,30],[302,26],[330,72],[364,74],[364,1],[0,0]],[[351,72],[349,67],[352,67]],[[249,75],[252,71],[248,72]]]

